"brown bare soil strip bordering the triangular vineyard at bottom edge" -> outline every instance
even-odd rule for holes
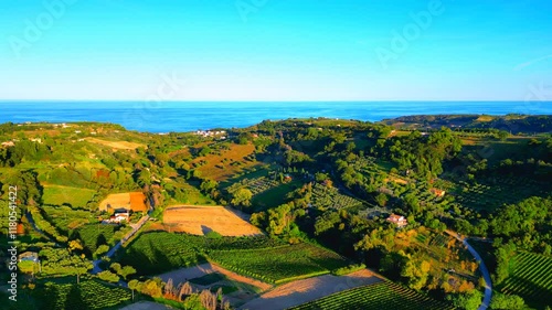
[[[276,287],[261,297],[243,304],[238,309],[279,310],[299,306],[338,291],[382,281],[368,269],[347,276],[325,275],[316,278],[293,281]]]

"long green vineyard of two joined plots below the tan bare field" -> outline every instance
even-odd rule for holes
[[[126,248],[120,263],[135,267],[139,275],[156,275],[206,259],[268,282],[328,274],[349,265],[336,253],[310,244],[286,245],[265,236],[209,239],[164,232],[142,234]]]

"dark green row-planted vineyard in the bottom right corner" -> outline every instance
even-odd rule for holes
[[[500,291],[521,296],[529,306],[552,307],[552,258],[520,253],[511,261],[511,274],[500,285]],[[548,300],[548,303],[546,303]]]

